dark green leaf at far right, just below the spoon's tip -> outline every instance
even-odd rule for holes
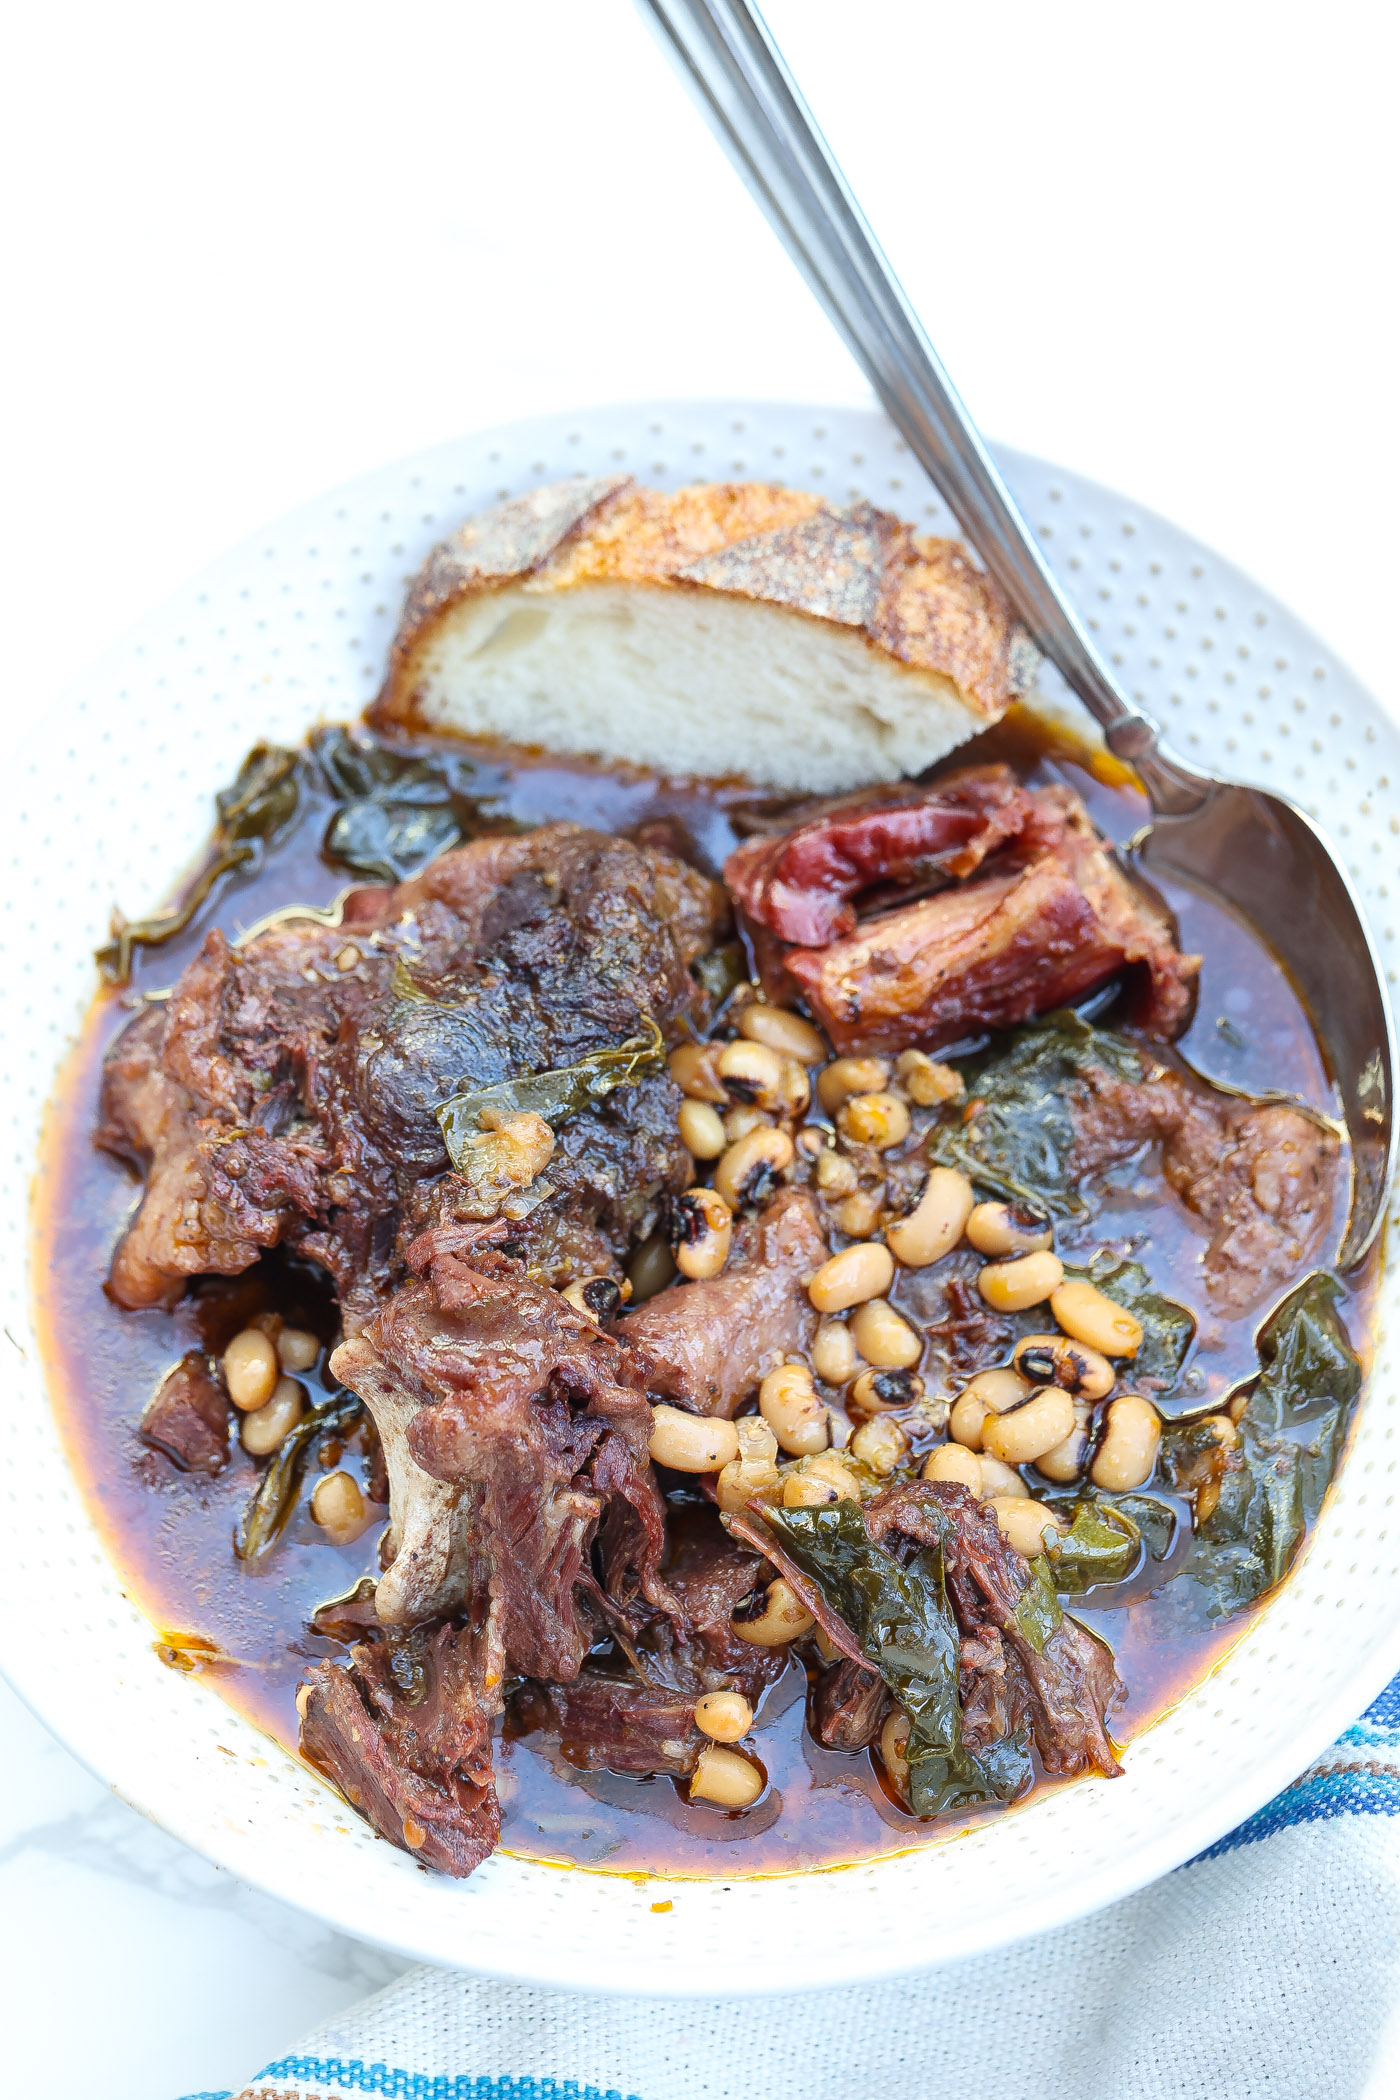
[[[1203,1420],[1169,1424],[1163,1436],[1173,1483],[1194,1491],[1205,1510],[1186,1573],[1205,1590],[1213,1619],[1280,1581],[1337,1470],[1360,1392],[1360,1361],[1337,1296],[1331,1277],[1308,1277],[1259,1334],[1261,1371],[1238,1445],[1222,1447]]]

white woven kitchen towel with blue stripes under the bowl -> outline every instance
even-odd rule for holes
[[[1020,1947],[726,2006],[418,1968],[237,2100],[1381,2100],[1400,2094],[1398,1814],[1400,1678],[1209,1852]]]

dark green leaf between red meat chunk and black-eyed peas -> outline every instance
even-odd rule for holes
[[[959,1111],[957,1121],[934,1132],[930,1159],[1054,1216],[1083,1216],[1087,1205],[1073,1184],[1070,1098],[1091,1067],[1119,1079],[1142,1079],[1144,1069],[1131,1044],[1077,1014],[1049,1014],[1016,1029],[991,1054],[961,1067],[972,1113],[963,1121]]]

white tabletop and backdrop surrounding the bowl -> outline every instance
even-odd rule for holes
[[[1213,542],[1396,701],[1394,8],[768,19],[980,424]],[[867,399],[628,0],[50,4],[4,76],[25,716],[231,540],[455,430]],[[390,1974],[8,1701],[0,1777],[15,2092],[218,2090]]]

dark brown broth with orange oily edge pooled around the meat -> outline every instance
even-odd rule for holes
[[[754,800],[739,785],[663,781],[623,766],[497,748],[481,748],[481,758],[495,781],[487,813],[493,823],[665,823],[712,869],[735,844],[739,806]],[[1123,769],[1089,758],[1033,718],[1018,714],[957,754],[959,764],[980,758],[1007,758],[1031,781],[1066,779],[1115,840],[1146,819],[1146,802]],[[118,1310],[103,1281],[139,1184],[92,1147],[92,1128],[109,1044],[143,993],[174,981],[210,926],[235,937],[279,905],[325,905],[346,886],[344,872],[319,855],[327,815],[330,804],[313,802],[256,874],[225,878],[191,928],[164,949],[139,951],[130,991],[99,993],[50,1107],[36,1199],[34,1273],[48,1390],[103,1544],[151,1619],[157,1651],[174,1667],[199,1667],[233,1707],[292,1751],[294,1695],[306,1663],[344,1653],[309,1632],[311,1613],[376,1571],[380,1525],[338,1550],[311,1522],[302,1497],[277,1548],[262,1564],[246,1567],[231,1541],[260,1476],[254,1460],[233,1438],[229,1466],[216,1478],[183,1474],[139,1443],[136,1424],[178,1357],[222,1348],[264,1306],[332,1342],[334,1298],[319,1270],[269,1256],[246,1277],[201,1279],[170,1312]],[[1205,956],[1201,1004],[1180,1056],[1226,1084],[1280,1088],[1331,1113],[1318,1044],[1276,960],[1209,899],[1180,892],[1169,903],[1184,947]],[[1201,1306],[1190,1287],[1201,1237],[1154,1172],[1119,1178],[1100,1216],[1062,1239],[1066,1250],[1112,1243],[1131,1252],[1159,1287]],[[1348,1304],[1358,1344],[1366,1310],[1369,1289],[1360,1287]],[[1201,1407],[1255,1369],[1253,1334],[1253,1319],[1203,1321],[1184,1405]],[[306,1384],[315,1399],[325,1380],[317,1371]],[[340,1464],[365,1480],[363,1453],[348,1449]],[[1182,1522],[1165,1564],[1148,1564],[1117,1592],[1089,1592],[1073,1606],[1112,1644],[1129,1688],[1112,1724],[1119,1743],[1142,1735],[1199,1684],[1253,1617],[1224,1628],[1205,1619],[1192,1586],[1171,1579],[1186,1537]],[[754,1743],[770,1789],[745,1816],[691,1806],[667,1779],[575,1772],[533,1737],[497,1741],[504,1848],[615,1873],[787,1873],[942,1842],[970,1821],[1005,1812],[936,1825],[905,1814],[879,1785],[869,1754],[846,1756],[812,1741],[804,1728],[806,1688],[793,1659],[762,1703]],[[1031,1798],[1047,1785],[1041,1774]]]

